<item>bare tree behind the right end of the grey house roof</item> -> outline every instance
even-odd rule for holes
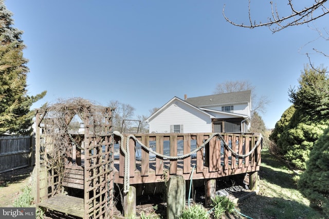
[[[255,94],[255,87],[252,86],[248,81],[227,81],[219,83],[217,84],[214,93],[221,94],[244,90],[251,90],[252,112],[259,111],[264,113],[266,105],[269,104],[270,101],[265,95],[258,96]]]

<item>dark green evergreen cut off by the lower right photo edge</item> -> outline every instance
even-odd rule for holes
[[[300,191],[329,217],[329,129],[326,129],[309,154],[307,168],[298,182]]]

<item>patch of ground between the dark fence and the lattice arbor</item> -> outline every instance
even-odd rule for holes
[[[26,167],[0,173],[0,207],[13,207],[32,171],[33,167]]]

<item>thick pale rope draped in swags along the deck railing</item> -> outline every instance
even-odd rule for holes
[[[121,151],[124,155],[124,176],[123,176],[123,192],[124,193],[127,193],[129,191],[129,186],[130,186],[130,182],[129,182],[129,177],[130,177],[130,169],[129,169],[129,166],[130,166],[130,153],[129,153],[129,141],[130,139],[133,139],[135,142],[137,142],[139,145],[141,145],[141,147],[147,151],[149,151],[150,153],[156,155],[156,156],[159,156],[163,159],[168,159],[168,160],[182,160],[186,157],[189,157],[191,156],[192,154],[196,153],[197,151],[203,149],[214,137],[218,137],[220,140],[223,141],[224,143],[224,146],[229,150],[231,151],[231,153],[235,156],[239,156],[239,157],[247,157],[249,156],[260,144],[261,144],[261,141],[262,141],[262,135],[260,135],[260,137],[258,138],[257,142],[255,143],[254,147],[247,153],[247,154],[239,154],[239,153],[236,153],[235,151],[233,151],[225,142],[224,140],[224,137],[221,135],[221,133],[213,133],[212,135],[209,136],[209,138],[207,139],[207,141],[205,141],[201,146],[197,147],[196,149],[194,149],[193,151],[191,151],[190,153],[187,153],[187,154],[183,154],[183,155],[180,155],[180,156],[167,156],[167,155],[164,155],[164,154],[160,154],[154,150],[152,150],[151,148],[148,148],[147,146],[145,146],[142,142],[140,142],[136,136],[134,135],[128,135],[126,137],[126,148],[124,148],[124,142],[123,142],[123,139],[124,139],[124,136],[118,132],[118,131],[114,131],[113,134],[119,136],[121,138],[121,141],[120,141],[120,148],[121,148]]]

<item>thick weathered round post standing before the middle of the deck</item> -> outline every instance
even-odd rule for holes
[[[185,207],[185,180],[182,175],[169,178],[167,187],[167,218],[178,218]]]

